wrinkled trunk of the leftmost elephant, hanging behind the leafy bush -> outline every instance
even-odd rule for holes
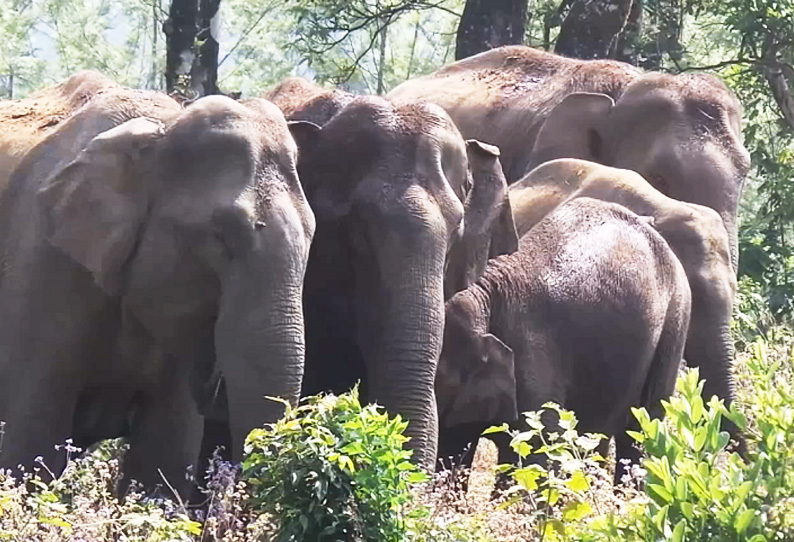
[[[266,252],[266,251],[263,251]],[[295,404],[303,379],[305,340],[301,305],[305,258],[277,262],[274,252],[251,254],[222,286],[215,326],[218,367],[226,382],[231,455],[242,458],[245,437],[278,420]]]

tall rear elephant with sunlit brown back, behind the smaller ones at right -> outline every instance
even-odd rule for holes
[[[464,137],[497,145],[508,182],[555,158],[581,158],[634,170],[667,196],[711,207],[725,222],[736,268],[750,159],[741,106],[716,77],[507,46],[406,81],[388,96],[437,103]]]

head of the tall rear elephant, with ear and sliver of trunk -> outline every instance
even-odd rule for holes
[[[736,267],[736,215],[750,159],[741,105],[716,77],[645,74],[617,101],[569,94],[546,117],[526,171],[555,158],[631,169],[667,196],[715,209]]]

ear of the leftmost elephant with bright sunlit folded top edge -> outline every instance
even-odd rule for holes
[[[148,190],[134,170],[163,133],[161,122],[145,117],[102,132],[37,194],[48,241],[111,295],[121,288],[122,267],[147,213]]]

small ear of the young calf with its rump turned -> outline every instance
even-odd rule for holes
[[[495,335],[486,333],[479,338],[479,351],[480,364],[467,375],[444,420],[447,427],[518,419],[513,350]]]

